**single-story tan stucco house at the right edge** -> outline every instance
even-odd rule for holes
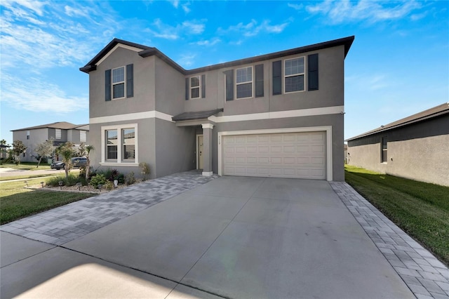
[[[449,186],[449,103],[347,142],[350,165]]]

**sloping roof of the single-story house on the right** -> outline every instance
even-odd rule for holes
[[[394,121],[390,124],[380,126],[379,128],[375,128],[374,130],[368,131],[361,135],[357,135],[353,138],[349,138],[346,141],[355,140],[355,139],[362,138],[362,137],[365,137],[368,135],[373,135],[375,133],[389,131],[391,129],[399,128],[401,126],[408,126],[410,124],[415,124],[417,122],[425,121],[427,119],[432,119],[434,117],[440,117],[441,115],[444,115],[444,114],[449,114],[449,102],[446,102],[446,103],[438,105],[436,107],[424,110],[420,113],[410,115],[410,117],[405,117],[403,119],[399,119],[398,121]]]

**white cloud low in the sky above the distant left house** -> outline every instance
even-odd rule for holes
[[[41,81],[37,77],[20,79],[2,77],[1,102],[16,109],[32,112],[69,113],[88,109],[88,96],[66,95],[55,84]]]

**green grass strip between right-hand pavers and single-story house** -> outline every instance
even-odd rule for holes
[[[345,180],[449,265],[449,187],[345,166]]]

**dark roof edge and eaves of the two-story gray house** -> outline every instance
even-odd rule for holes
[[[344,46],[344,57],[346,58],[346,55],[349,52],[349,48],[351,48],[354,38],[355,38],[354,35],[347,36],[342,39],[334,39],[332,41],[325,41],[325,42],[319,43],[319,44],[302,46],[299,48],[293,48],[293,49],[286,50],[286,51],[279,51],[279,52],[274,52],[274,53],[269,53],[269,54],[264,54],[264,55],[258,55],[258,56],[254,56],[254,57],[250,57],[250,58],[243,58],[243,59],[234,60],[234,61],[230,61],[230,62],[220,63],[217,65],[209,65],[207,67],[199,67],[199,68],[190,69],[190,70],[184,69],[183,67],[178,65],[176,62],[171,60],[167,55],[165,55],[164,53],[159,51],[157,48],[143,46],[140,44],[134,44],[134,43],[131,43],[130,41],[123,41],[122,39],[113,39],[109,44],[107,44],[107,46],[105,46],[105,48],[102,49],[102,51],[100,51],[100,53],[95,55],[95,57],[91,61],[89,61],[87,63],[87,65],[85,65],[84,67],[80,67],[79,70],[81,72],[89,73],[89,72],[97,69],[97,66],[96,66],[97,62],[99,62],[105,55],[107,55],[107,53],[109,53],[109,51],[112,51],[112,49],[117,44],[123,44],[126,46],[141,48],[142,51],[140,51],[138,54],[142,58],[156,55],[158,58],[160,58],[161,60],[166,62],[168,65],[170,65],[171,67],[176,69],[178,72],[180,72],[182,74],[194,74],[194,73],[198,73],[198,72],[210,71],[213,69],[221,69],[223,67],[234,67],[236,65],[245,65],[248,63],[254,63],[254,62],[259,62],[259,61],[263,61],[263,60],[281,58],[283,56],[288,56],[288,55],[296,55],[299,53],[317,51],[317,50],[321,50],[324,48],[331,48],[331,47],[335,47],[335,46]]]

